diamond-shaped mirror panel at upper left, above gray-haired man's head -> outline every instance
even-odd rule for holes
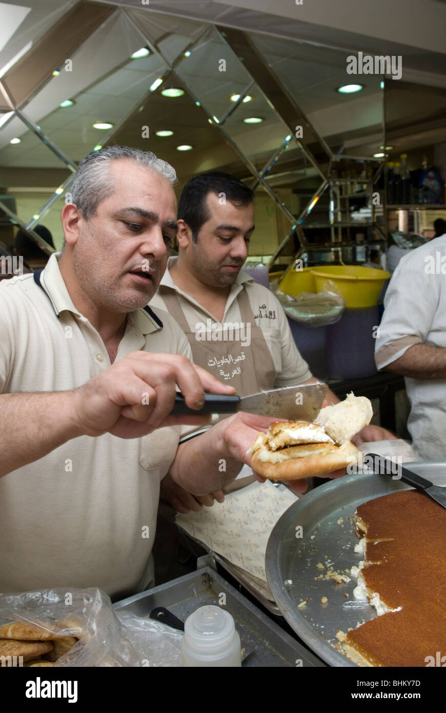
[[[24,113],[61,153],[78,163],[115,133],[165,70],[161,59],[144,46],[140,33],[118,14],[83,43],[73,56],[71,71],[61,68]],[[53,111],[48,113],[48,106]],[[3,144],[12,138],[12,127],[7,129],[0,139]],[[22,140],[28,145],[32,139]],[[13,155],[9,151],[7,160],[14,160]],[[31,155],[30,160],[37,157]],[[53,165],[53,159],[46,160]]]

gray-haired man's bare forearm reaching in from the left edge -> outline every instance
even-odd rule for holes
[[[74,391],[0,395],[0,477],[81,436]]]

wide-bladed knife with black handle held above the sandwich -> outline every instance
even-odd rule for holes
[[[289,421],[308,421],[311,423],[321,411],[327,391],[326,384],[299,384],[285,386],[284,389],[260,391],[250,396],[226,396],[223,394],[204,394],[202,409],[190,409],[185,397],[177,394],[171,414],[175,416],[199,416],[200,414],[246,414],[272,416]]]

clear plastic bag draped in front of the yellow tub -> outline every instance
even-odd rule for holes
[[[343,298],[333,280],[328,279],[321,292],[299,292],[291,295],[276,289],[276,297],[281,302],[286,314],[296,322],[306,324],[307,327],[325,327],[335,324],[341,319],[346,300]]]

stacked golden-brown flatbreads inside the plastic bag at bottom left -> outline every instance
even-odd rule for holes
[[[0,627],[0,667],[22,662],[27,667],[53,666],[77,641],[78,637],[58,634],[57,627],[46,623],[42,628],[24,622],[6,624]]]

